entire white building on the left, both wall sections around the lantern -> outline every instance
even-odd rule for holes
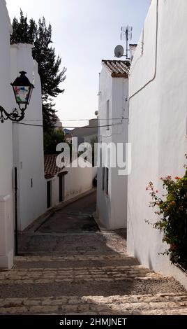
[[[44,178],[41,85],[31,45],[11,45],[12,27],[6,1],[0,0],[0,106],[8,113],[17,107],[13,88],[20,71],[35,88],[20,123],[0,123],[0,267],[12,267],[15,229],[15,168],[17,169],[18,230],[24,230],[47,209]],[[36,121],[37,120],[37,121]],[[39,121],[38,121],[39,120]]]

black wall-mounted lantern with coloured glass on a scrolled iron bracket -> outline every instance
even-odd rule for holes
[[[8,113],[5,109],[3,109],[2,106],[0,106],[1,123],[8,119],[14,122],[23,120],[24,112],[27,109],[27,105],[29,105],[31,94],[34,88],[27,76],[25,76],[26,73],[27,72],[21,71],[20,76],[17,77],[13,83],[11,83],[15,94],[15,101],[18,104],[20,110],[14,109],[13,112]]]

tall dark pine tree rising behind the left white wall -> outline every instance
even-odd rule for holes
[[[27,20],[20,10],[20,21],[13,19],[13,34],[10,43],[33,43],[33,59],[38,62],[43,97],[43,125],[47,130],[48,125],[54,125],[57,116],[55,114],[52,98],[64,92],[59,87],[66,76],[66,68],[60,71],[61,59],[56,57],[55,48],[52,48],[52,26],[46,25],[45,18],[36,22]]]

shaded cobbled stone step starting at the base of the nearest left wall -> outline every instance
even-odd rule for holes
[[[55,283],[75,281],[120,281],[133,279],[159,279],[163,275],[151,272],[142,265],[58,268],[15,268],[0,272],[0,284]]]

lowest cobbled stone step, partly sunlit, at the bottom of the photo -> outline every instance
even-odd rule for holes
[[[187,314],[187,293],[0,299],[0,314]]]

